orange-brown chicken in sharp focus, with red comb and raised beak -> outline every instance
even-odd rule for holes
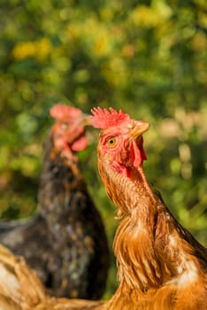
[[[206,310],[207,251],[175,220],[143,171],[142,134],[149,124],[128,114],[94,108],[101,128],[98,169],[118,207],[114,239],[119,287],[100,309]]]

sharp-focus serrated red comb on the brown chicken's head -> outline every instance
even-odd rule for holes
[[[106,129],[113,126],[118,126],[126,120],[130,120],[128,114],[119,110],[117,112],[113,108],[101,109],[99,106],[97,108],[91,109],[93,116],[91,116],[91,124],[95,128]]]

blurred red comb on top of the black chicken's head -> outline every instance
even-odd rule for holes
[[[67,116],[76,118],[80,113],[80,109],[69,105],[57,104],[50,108],[50,116],[57,120]]]

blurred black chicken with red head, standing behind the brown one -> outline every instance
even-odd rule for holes
[[[0,223],[0,242],[23,255],[56,297],[101,298],[109,249],[100,213],[88,195],[77,151],[87,147],[87,116],[55,105],[44,145],[38,214],[22,223]]]

